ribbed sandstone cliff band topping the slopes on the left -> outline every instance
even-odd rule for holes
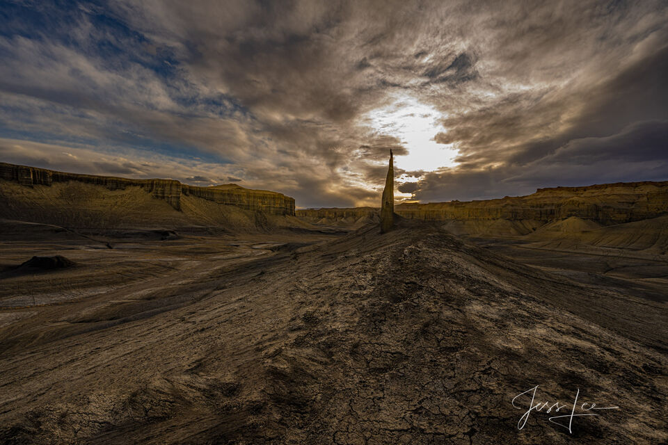
[[[78,181],[103,186],[109,190],[122,190],[138,186],[153,197],[168,202],[181,210],[181,197],[192,195],[218,204],[233,205],[247,210],[262,210],[273,215],[294,216],[294,198],[282,193],[252,190],[227,184],[223,186],[198,187],[182,184],[174,179],[127,179],[120,177],[79,175],[57,172],[26,165],[0,163],[0,179],[13,181],[26,187],[51,186],[56,182]]]

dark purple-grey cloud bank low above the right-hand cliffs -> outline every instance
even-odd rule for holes
[[[527,163],[442,170],[399,191],[421,200],[488,199],[525,195],[545,186],[582,186],[668,178],[668,121],[630,124],[619,133],[569,140],[550,154]]]

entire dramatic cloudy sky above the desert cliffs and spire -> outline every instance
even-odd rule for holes
[[[542,5],[540,3],[543,3]],[[668,179],[666,1],[0,1],[0,161],[299,207]]]

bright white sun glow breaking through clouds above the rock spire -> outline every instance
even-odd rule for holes
[[[433,172],[456,165],[457,149],[452,144],[439,144],[434,140],[436,133],[443,131],[438,119],[445,117],[436,108],[404,96],[389,106],[371,111],[366,120],[379,133],[399,138],[408,149],[407,155],[397,156],[398,167],[409,172]]]

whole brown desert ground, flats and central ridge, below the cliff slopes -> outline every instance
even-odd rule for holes
[[[0,442],[668,439],[665,257],[398,226],[3,220]],[[56,255],[74,264],[24,264]],[[519,429],[536,385],[619,409]]]

